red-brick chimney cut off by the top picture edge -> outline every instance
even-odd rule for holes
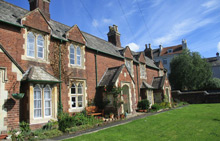
[[[28,0],[30,11],[39,8],[47,20],[50,20],[50,0]]]

